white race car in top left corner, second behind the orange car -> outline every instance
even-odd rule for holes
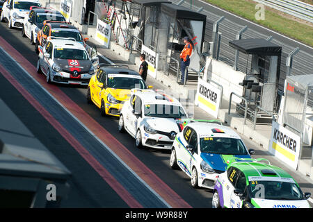
[[[0,21],[6,20],[9,28],[22,28],[24,18],[28,17],[32,6],[41,7],[38,0],[8,0],[3,3]]]

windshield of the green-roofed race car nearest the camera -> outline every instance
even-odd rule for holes
[[[250,181],[252,198],[267,200],[303,200],[303,193],[293,182]]]

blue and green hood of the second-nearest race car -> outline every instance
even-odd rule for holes
[[[218,171],[225,171],[228,166],[227,162],[229,162],[234,157],[251,158],[250,155],[221,155],[214,153],[201,153],[200,157],[213,169]]]

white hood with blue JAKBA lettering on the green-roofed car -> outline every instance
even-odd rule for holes
[[[307,200],[264,200],[252,198],[251,203],[260,208],[310,208]]]

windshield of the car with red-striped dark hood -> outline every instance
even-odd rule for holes
[[[89,60],[86,51],[81,49],[54,49],[54,58],[65,60]]]

